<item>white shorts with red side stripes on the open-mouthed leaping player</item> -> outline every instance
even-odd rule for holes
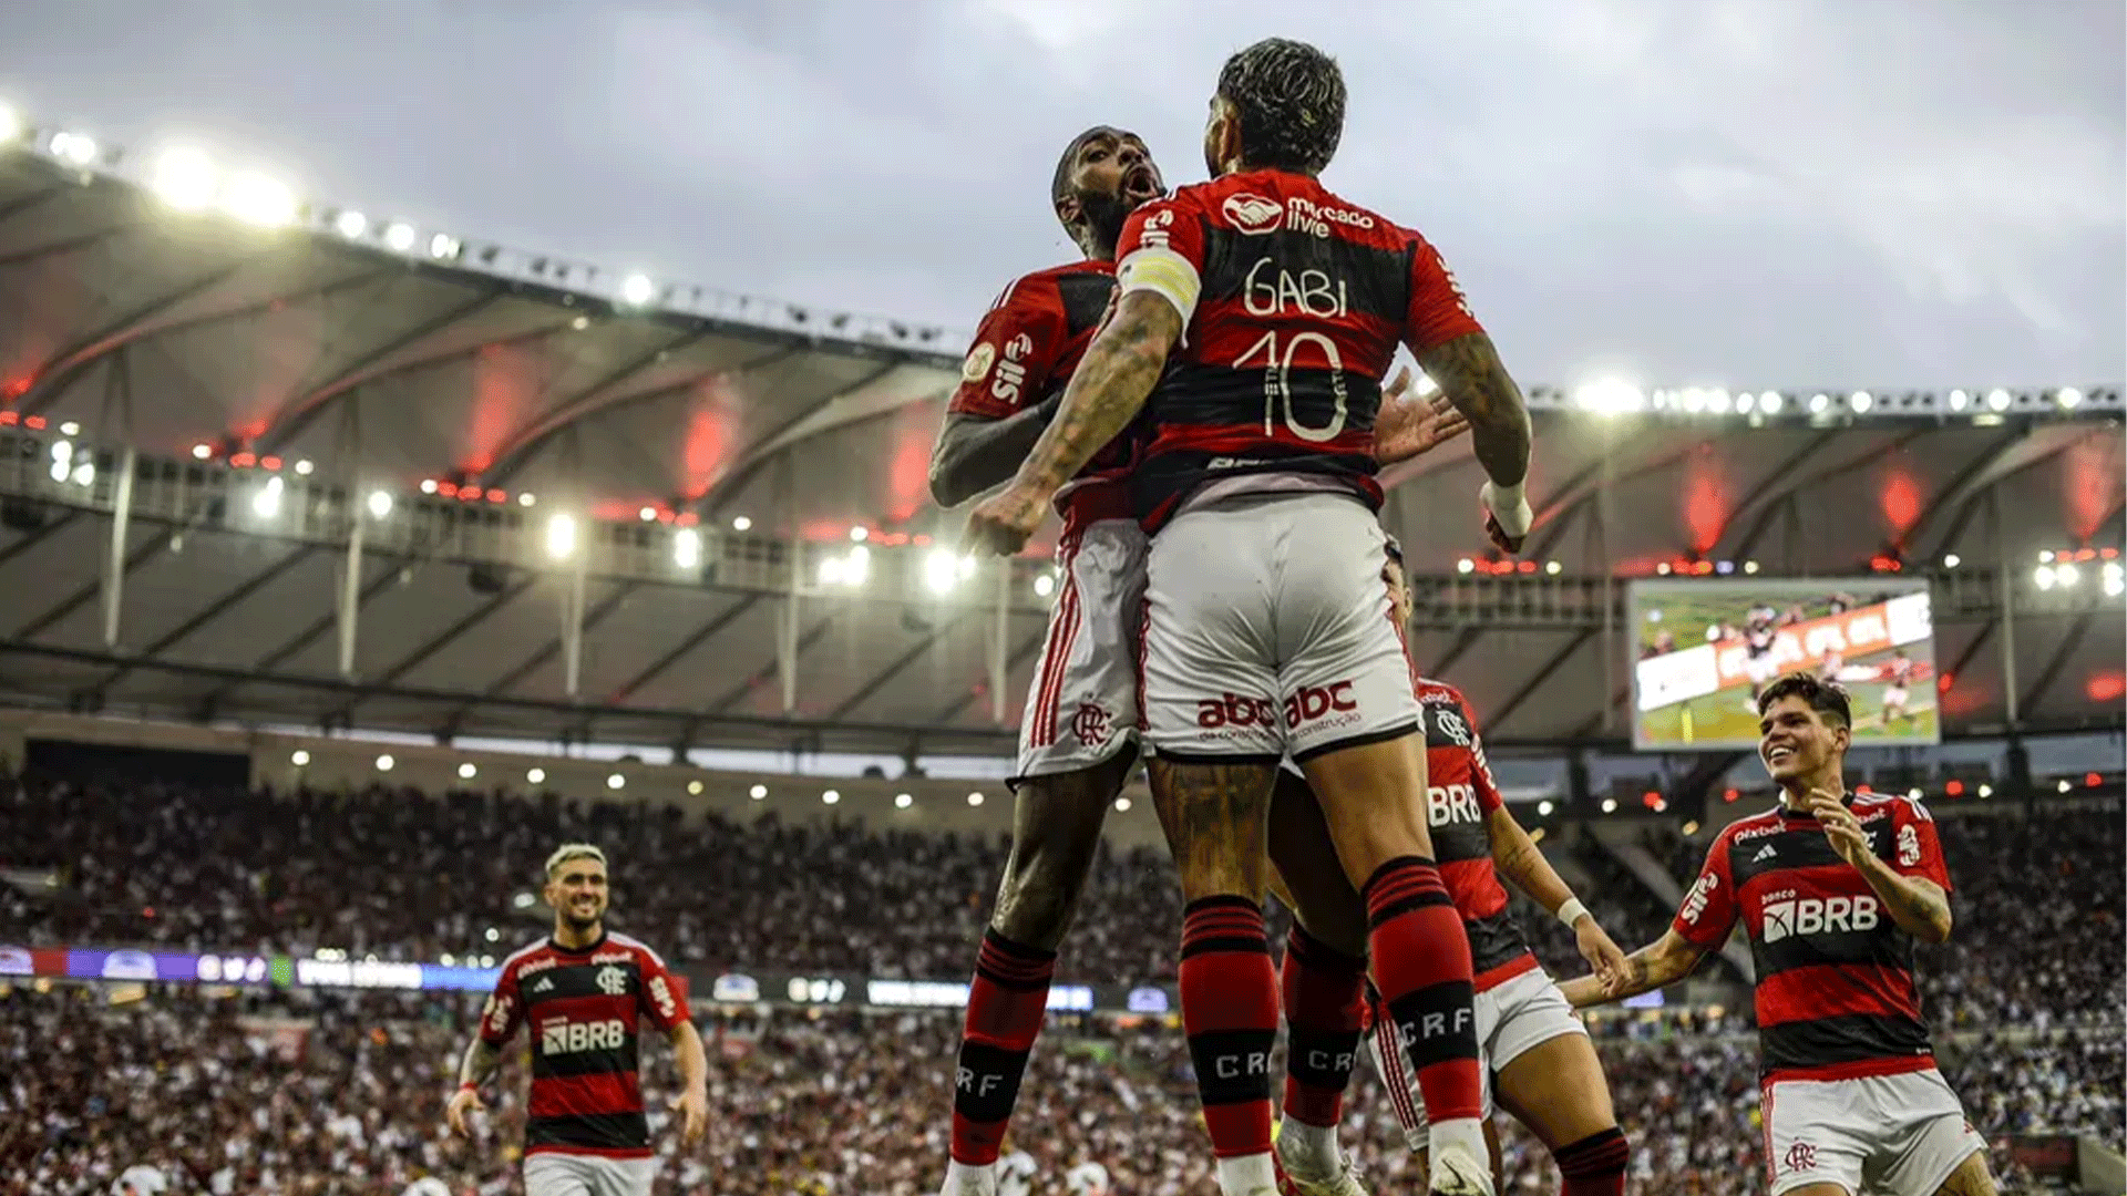
[[[1057,572],[1061,587],[1019,719],[1015,785],[1100,764],[1138,743],[1144,532],[1136,519],[1066,524]]]

